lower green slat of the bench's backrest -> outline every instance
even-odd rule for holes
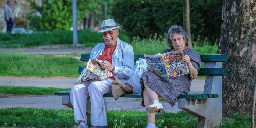
[[[81,74],[85,66],[79,66],[78,73]],[[225,76],[226,70],[224,68],[200,68],[198,71],[198,76]]]

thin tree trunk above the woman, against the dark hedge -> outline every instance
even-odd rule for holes
[[[183,26],[188,33],[188,47],[192,49],[189,17],[189,0],[183,0]]]

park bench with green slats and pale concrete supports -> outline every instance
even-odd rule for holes
[[[206,76],[204,92],[202,94],[183,94],[178,97],[178,107],[196,117],[198,117],[197,127],[215,127],[222,124],[222,76],[225,75],[225,69],[222,68],[222,62],[227,62],[227,55],[200,55],[204,62],[204,68],[198,71],[199,76]],[[88,61],[90,55],[81,55],[81,61]],[[144,58],[144,55],[135,55],[135,59]],[[81,73],[85,67],[79,67],[78,73]],[[62,104],[73,109],[69,99],[70,90],[55,91],[54,95],[62,95]],[[106,106],[106,97],[113,97],[111,93],[104,94]],[[122,97],[141,98],[140,94],[124,94]],[[91,113],[90,98],[87,100],[87,115]]]

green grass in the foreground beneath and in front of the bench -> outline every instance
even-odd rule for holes
[[[125,123],[125,128],[132,128],[138,123],[137,128],[147,126],[147,115],[143,111],[108,111],[108,126],[112,128],[116,123]],[[163,120],[163,123],[161,124]],[[162,127],[174,128],[195,128],[197,126],[197,117],[190,115],[187,112],[170,113],[165,112],[162,115],[156,114],[156,125],[161,124]],[[5,124],[6,123],[6,124]],[[74,123],[73,110],[69,109],[38,109],[38,108],[4,108],[0,109],[0,127],[73,127]],[[90,119],[88,119],[90,126]],[[222,120],[221,128],[235,127],[243,128],[250,127],[250,117],[241,116],[236,113],[229,114]]]

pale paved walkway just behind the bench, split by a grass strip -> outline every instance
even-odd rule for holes
[[[35,86],[35,87],[59,87],[70,88],[75,81],[74,78],[17,78],[17,77],[0,77],[1,85],[11,86]],[[203,92],[204,81],[201,79],[192,80],[190,93]],[[139,110],[144,111],[140,106],[140,101],[134,101],[137,98],[119,98],[117,101],[112,97],[107,97],[108,110]],[[177,104],[174,107],[168,103],[162,103],[167,112],[179,112]],[[129,106],[127,106],[129,105]],[[62,96],[47,97],[16,97],[0,98],[0,108],[9,107],[33,107],[33,108],[54,108],[69,109],[62,105]]]

